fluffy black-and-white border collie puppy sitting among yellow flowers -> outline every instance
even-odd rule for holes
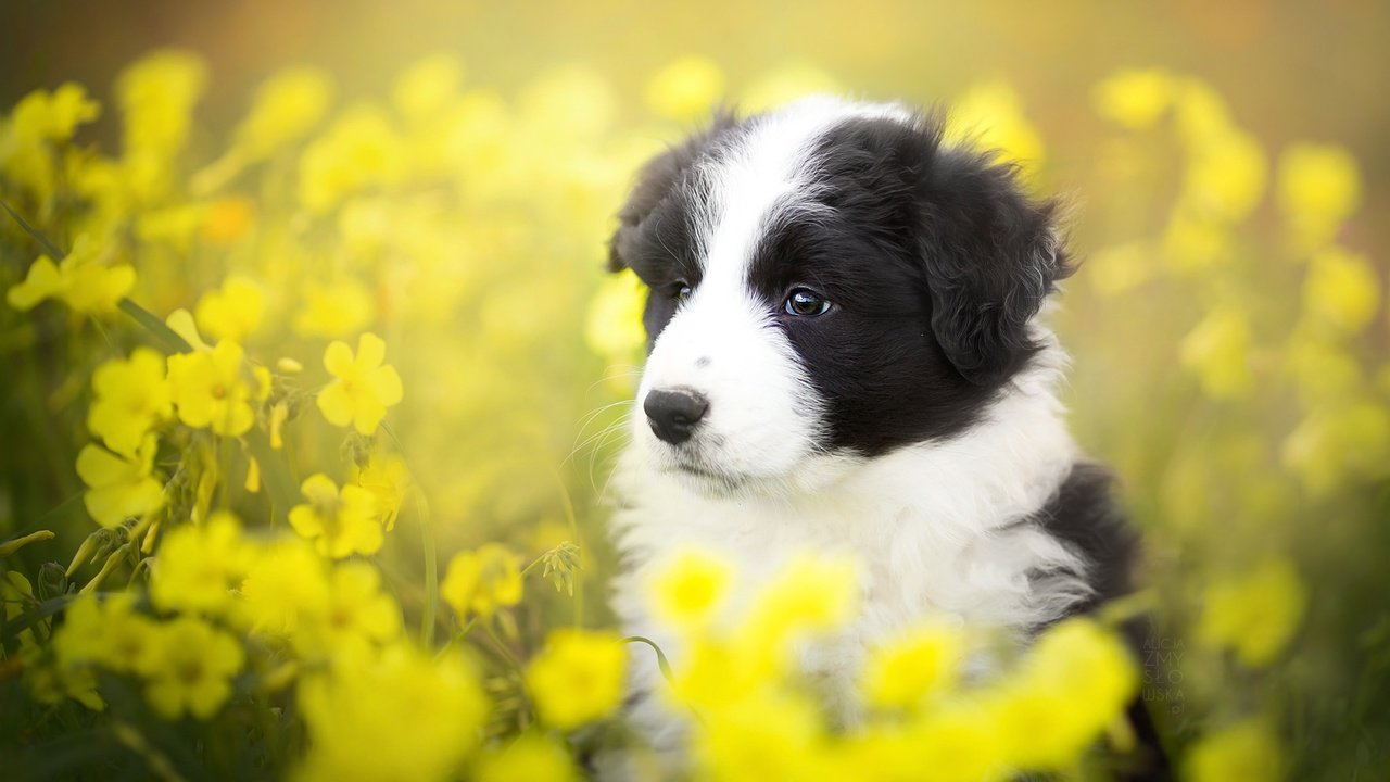
[[[853,555],[860,615],[803,654],[852,721],[863,653],[895,630],[945,614],[1026,641],[1126,589],[1131,538],[1037,317],[1070,271],[1056,209],[938,117],[833,97],[719,117],[642,170],[610,266],[651,289],[612,484],[630,632],[680,654],[645,579],[682,547],[745,594],[798,552]],[[651,657],[632,717],[671,749]]]

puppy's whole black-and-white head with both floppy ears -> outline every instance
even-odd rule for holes
[[[612,267],[651,289],[637,447],[709,493],[808,488],[969,429],[1065,271],[1051,205],[895,106],[721,117],[620,220]]]

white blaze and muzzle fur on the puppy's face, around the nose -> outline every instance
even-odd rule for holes
[[[845,459],[817,448],[823,401],[787,335],[780,302],[749,289],[759,242],[787,210],[815,209],[813,149],[837,124],[910,114],[895,104],[806,99],[758,120],[737,147],[708,163],[712,184],[698,216],[702,280],[657,337],[637,405],[651,391],[699,394],[709,409],[680,445],[660,441],[637,416],[635,438],[657,469],[694,486],[803,488],[838,474]]]

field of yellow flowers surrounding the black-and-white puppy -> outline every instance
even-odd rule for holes
[[[581,64],[500,90],[430,54],[366,93],[289,67],[210,127],[214,77],[158,49],[108,100],[0,107],[4,779],[642,768],[638,654],[695,715],[692,779],[1105,779],[1136,694],[1184,778],[1390,764],[1386,276],[1347,239],[1366,184],[1336,139],[1266,143],[1173,70],[1090,85],[1106,141],[1072,182],[1088,252],[1054,319],[1150,586],[988,680],[966,660],[991,639],[913,628],[845,728],[792,650],[855,611],[853,562],[801,561],[721,625],[738,573],[689,552],[652,590],[680,660],[603,607],[645,340],[635,281],[600,271],[610,216],[717,102],[834,78],[735,90],[685,56],[634,99]],[[1020,90],[951,97],[959,143],[1056,185]],[[1116,629],[1141,615],[1136,653]]]

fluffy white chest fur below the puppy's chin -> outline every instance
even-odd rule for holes
[[[823,462],[812,468],[821,472],[815,490],[777,497],[696,493],[653,468],[642,437],[635,438],[613,484],[621,504],[613,527],[626,566],[614,582],[614,608],[626,629],[653,637],[680,660],[674,639],[649,616],[645,583],[687,547],[735,568],[734,607],[801,552],[855,558],[858,618],[803,660],[817,675],[845,685],[866,647],[927,616],[1020,630],[1059,616],[1088,587],[1084,562],[1027,523],[1077,456],[1051,392],[1054,376],[1020,376],[959,437],[876,459]],[[827,473],[834,477],[826,480]],[[1037,572],[1054,576],[1030,579]],[[637,685],[644,687],[656,685],[655,665],[645,657],[635,658]]]

